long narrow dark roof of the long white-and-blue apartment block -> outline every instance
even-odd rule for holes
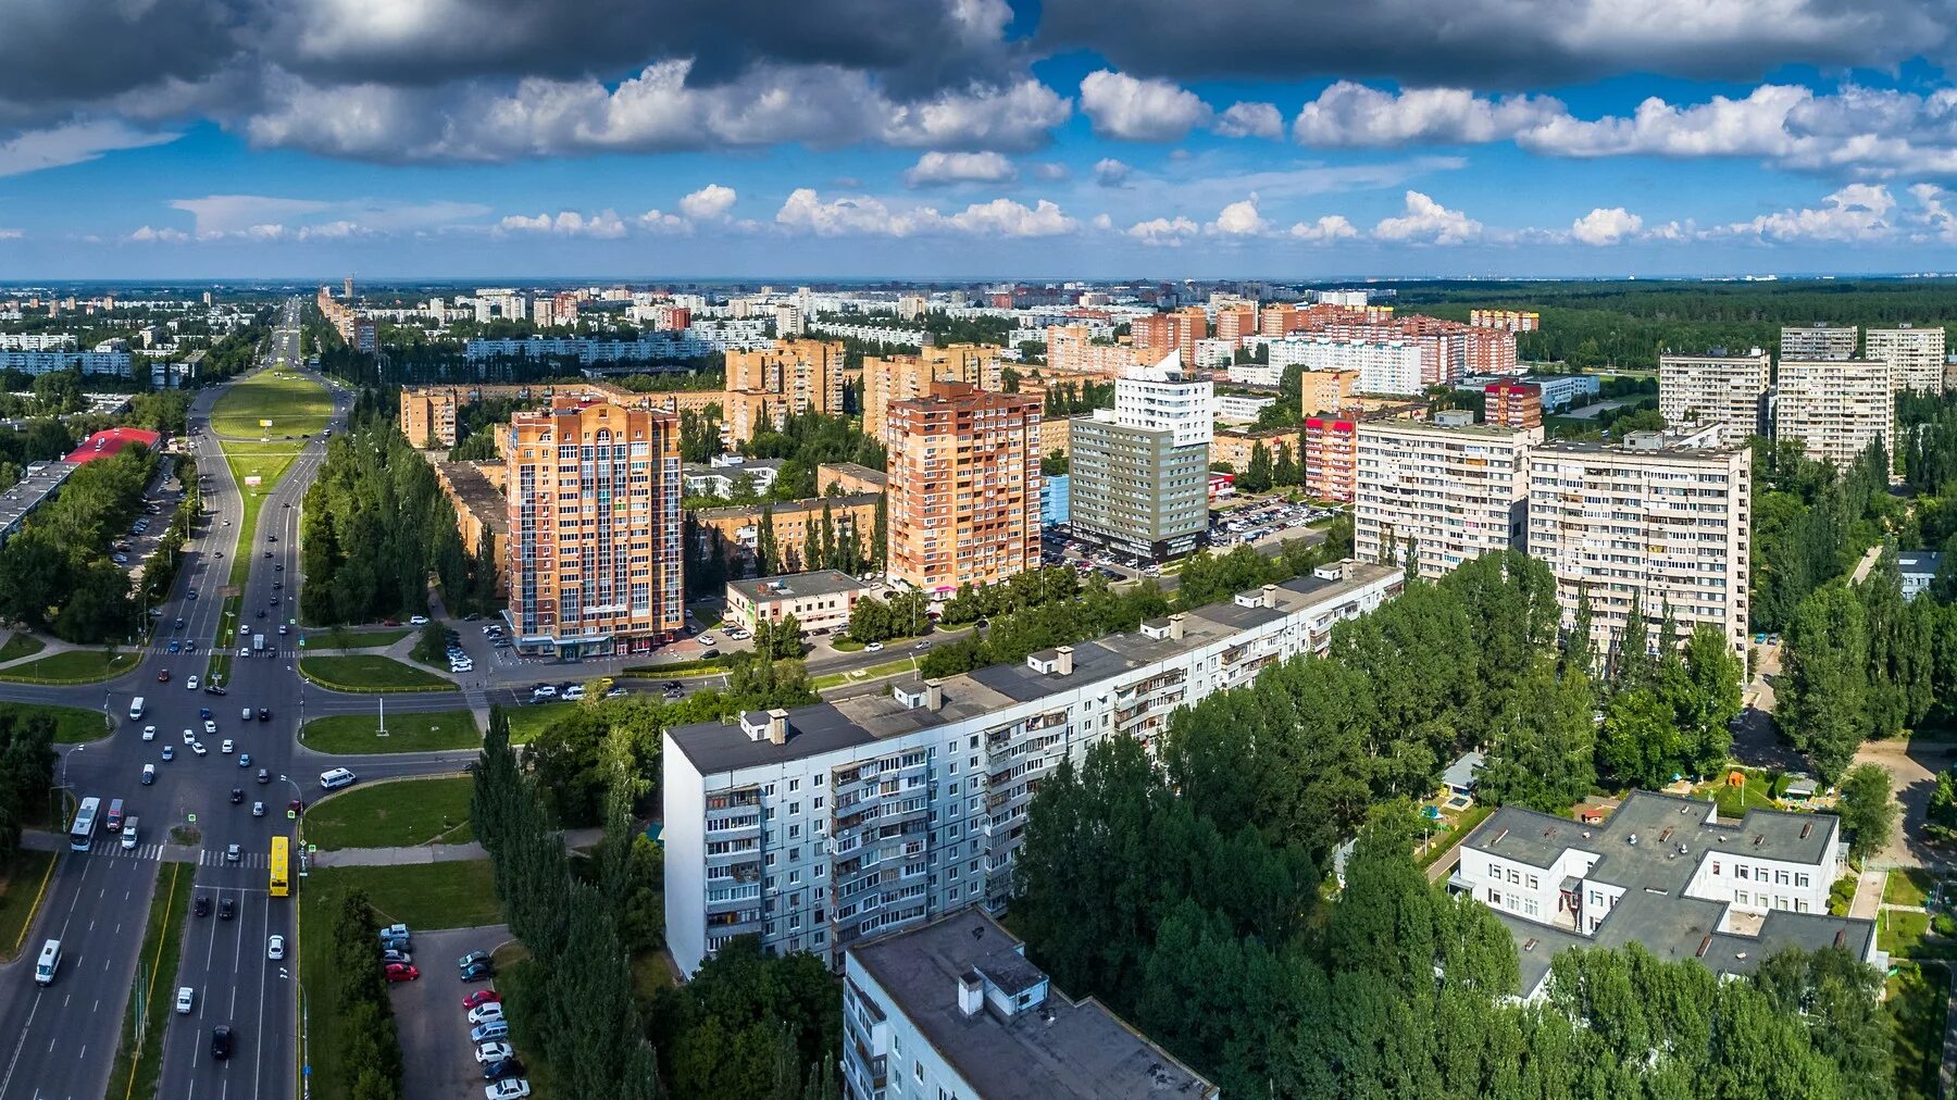
[[[789,740],[781,746],[767,738],[751,740],[738,724],[722,722],[677,726],[667,736],[673,738],[679,752],[703,775],[867,746],[992,714],[1016,703],[1031,703],[1076,685],[1112,679],[1174,654],[1227,640],[1251,626],[1282,619],[1292,611],[1325,599],[1339,587],[1354,589],[1395,573],[1399,570],[1352,562],[1346,564],[1346,579],[1311,575],[1274,585],[1272,597],[1276,607],[1245,607],[1233,601],[1190,611],[1184,615],[1180,640],[1166,636],[1151,638],[1137,630],[1090,642],[1074,642],[1072,671],[1067,675],[1041,673],[1025,662],[1012,662],[945,677],[943,703],[935,710],[900,703],[892,693],[796,707],[789,710]],[[1039,654],[1033,656],[1039,658]]]

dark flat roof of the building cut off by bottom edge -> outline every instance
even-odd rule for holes
[[[1108,1012],[1098,1000],[1049,992],[1004,1016],[959,1008],[961,983],[982,981],[1006,996],[1047,975],[1024,945],[980,908],[949,912],[904,932],[849,945],[849,955],[932,1049],[986,1100],[1106,1100],[1215,1096],[1215,1086]]]

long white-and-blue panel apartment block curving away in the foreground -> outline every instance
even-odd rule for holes
[[[1025,808],[1102,738],[1323,652],[1403,577],[1337,562],[1233,603],[888,695],[665,732],[665,926],[687,975],[732,936],[842,969],[861,938],[975,902],[998,910]]]

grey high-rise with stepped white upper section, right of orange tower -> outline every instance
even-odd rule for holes
[[[1215,395],[1182,372],[1182,354],[1114,384],[1114,409],[1070,429],[1069,523],[1074,536],[1135,558],[1194,554],[1209,530],[1209,435]]]

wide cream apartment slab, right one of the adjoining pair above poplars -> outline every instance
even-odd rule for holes
[[[1528,554],[1556,573],[1566,626],[1589,599],[1599,654],[1646,624],[1710,622],[1746,652],[1753,450],[1630,433],[1618,446],[1548,442],[1528,456]],[[1638,640],[1634,644],[1650,642]]]

